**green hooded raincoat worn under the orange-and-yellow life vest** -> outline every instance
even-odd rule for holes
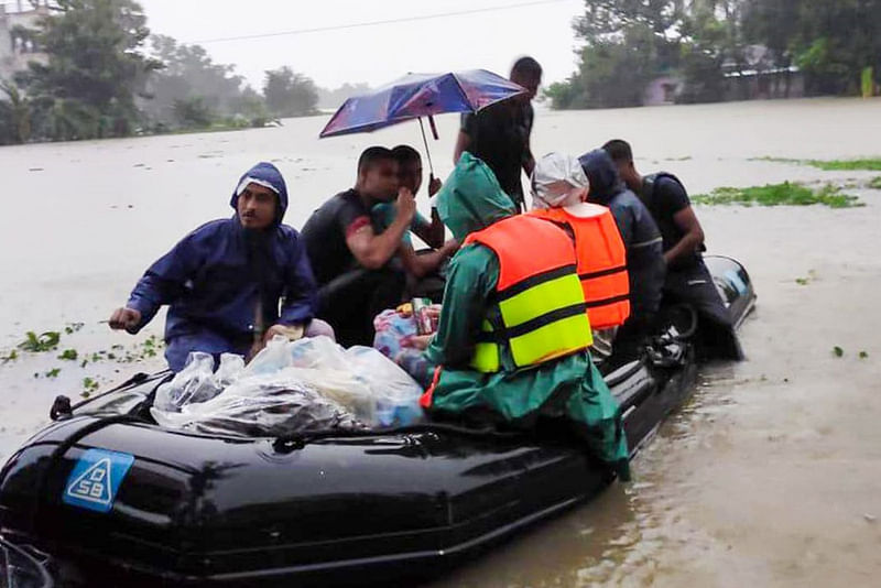
[[[492,171],[470,153],[463,153],[438,193],[437,211],[459,242],[515,214]],[[439,367],[423,406],[437,413],[492,414],[523,428],[540,416],[565,420],[592,455],[629,479],[620,409],[587,350],[520,369],[503,352],[498,371],[471,367],[481,325],[488,313],[498,312],[492,301],[500,268],[497,254],[479,243],[464,246],[450,260],[438,330],[423,340],[424,358]]]

